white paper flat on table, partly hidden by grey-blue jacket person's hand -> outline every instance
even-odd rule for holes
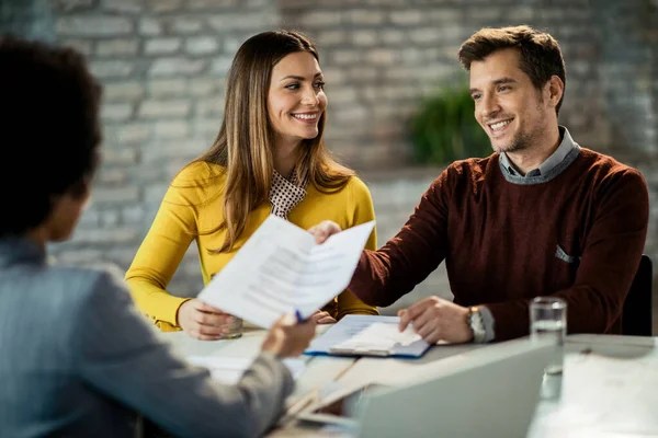
[[[197,367],[207,368],[211,371],[211,377],[214,380],[226,384],[236,384],[247,368],[249,368],[253,359],[238,357],[189,356],[188,361]],[[291,371],[291,374],[295,380],[297,380],[304,370],[306,370],[306,362],[304,359],[284,359],[283,364]]]

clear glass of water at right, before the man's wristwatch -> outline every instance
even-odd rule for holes
[[[555,346],[553,360],[544,369],[541,396],[559,399],[567,336],[567,302],[557,297],[537,297],[530,303],[531,341],[548,341]]]

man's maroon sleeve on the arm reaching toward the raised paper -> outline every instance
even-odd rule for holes
[[[349,288],[364,302],[393,304],[445,258],[450,172],[446,169],[432,183],[395,238],[361,255]]]

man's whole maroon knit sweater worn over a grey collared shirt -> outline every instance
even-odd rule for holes
[[[585,148],[547,178],[509,182],[498,153],[453,163],[400,232],[363,253],[350,290],[389,306],[445,260],[454,301],[486,304],[496,341],[526,335],[529,301],[546,295],[567,301],[569,333],[620,333],[647,233],[646,182]]]

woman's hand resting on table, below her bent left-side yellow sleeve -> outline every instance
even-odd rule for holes
[[[228,324],[232,321],[229,313],[214,308],[198,299],[183,302],[178,312],[178,324],[183,331],[201,341],[217,341],[228,333]]]

